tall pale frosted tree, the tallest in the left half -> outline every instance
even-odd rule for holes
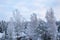
[[[21,37],[22,35],[24,35],[24,26],[23,26],[23,22],[24,19],[22,17],[22,15],[20,15],[20,12],[18,9],[16,9],[13,12],[13,17],[14,17],[14,21],[15,21],[15,33],[17,37]]]

